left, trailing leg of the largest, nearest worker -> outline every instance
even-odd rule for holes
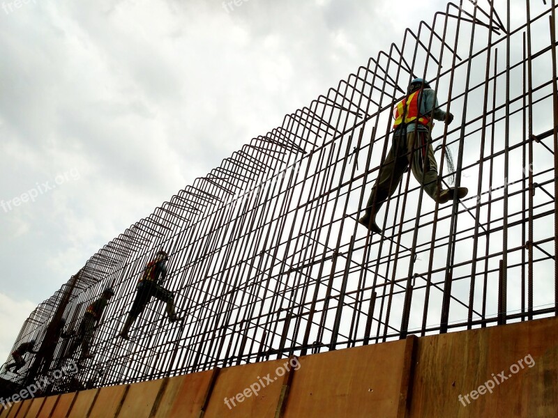
[[[375,223],[375,216],[382,207],[386,199],[397,190],[403,173],[407,168],[407,160],[405,159],[405,137],[397,136],[393,140],[393,145],[389,150],[384,164],[379,169],[372,192],[366,203],[365,215],[359,219],[359,223],[368,226],[371,231],[381,233],[381,230]]]

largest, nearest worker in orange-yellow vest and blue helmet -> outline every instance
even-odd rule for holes
[[[420,78],[414,79],[409,84],[407,97],[395,107],[391,149],[379,169],[366,203],[365,215],[359,219],[359,224],[366,226],[369,231],[382,233],[375,221],[376,214],[398,188],[409,164],[416,180],[437,203],[453,200],[455,194],[459,199],[467,195],[467,187],[439,188],[438,167],[430,143],[433,126],[431,116],[446,124],[453,121],[453,114],[438,108],[438,100],[430,84]]]

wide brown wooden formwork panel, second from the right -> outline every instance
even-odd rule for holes
[[[285,418],[397,417],[406,341],[300,358]]]

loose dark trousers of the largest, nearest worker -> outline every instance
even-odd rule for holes
[[[438,165],[434,150],[430,144],[429,132],[416,130],[407,135],[393,133],[393,141],[386,160],[379,169],[372,193],[366,205],[368,215],[372,214],[372,205],[375,202],[373,215],[377,213],[382,203],[393,195],[409,164],[414,178],[421,183],[424,191],[432,199],[437,199],[438,194]],[[424,178],[423,178],[424,173]]]

